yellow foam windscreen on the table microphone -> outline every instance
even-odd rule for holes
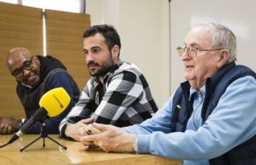
[[[46,92],[40,99],[40,107],[48,111],[49,117],[58,116],[66,110],[71,98],[63,87],[51,89]]]

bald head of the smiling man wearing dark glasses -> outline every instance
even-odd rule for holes
[[[9,51],[6,66],[22,84],[35,86],[40,79],[40,60],[23,47],[16,47]]]

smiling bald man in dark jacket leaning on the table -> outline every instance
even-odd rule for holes
[[[17,81],[16,92],[25,110],[26,118],[0,118],[0,134],[11,134],[31,118],[39,108],[43,94],[56,87],[64,87],[71,97],[69,106],[59,116],[46,119],[49,134],[58,134],[61,120],[79,100],[79,87],[67,73],[66,67],[56,58],[32,55],[23,47],[11,49],[7,55],[6,66]],[[40,133],[41,125],[36,123],[28,133]]]

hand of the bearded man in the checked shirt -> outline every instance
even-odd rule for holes
[[[81,136],[88,135],[85,131],[83,131],[83,127],[86,127],[88,123],[92,123],[93,118],[82,119],[75,124],[69,124],[66,127],[65,135],[67,137],[71,137],[74,140],[79,141]]]

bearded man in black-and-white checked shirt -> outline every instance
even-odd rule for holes
[[[93,121],[118,127],[142,123],[158,110],[137,66],[119,60],[120,49],[113,26],[95,25],[85,30],[83,52],[92,78],[59,125],[61,137],[79,140],[86,134],[79,128]]]

